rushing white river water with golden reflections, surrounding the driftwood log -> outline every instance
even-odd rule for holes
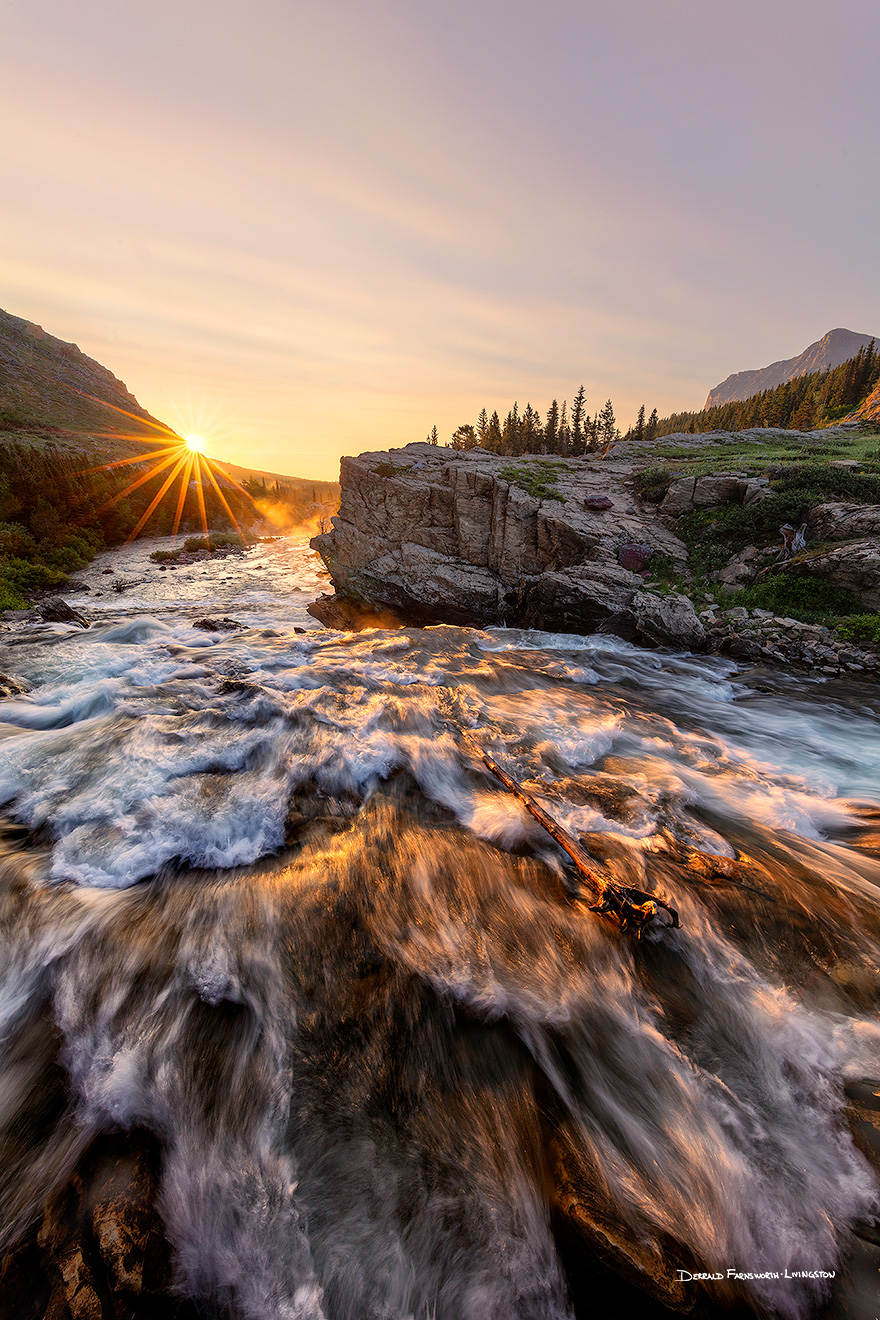
[[[876,689],[331,632],[317,566],[4,639],[0,1315],[869,1320]]]

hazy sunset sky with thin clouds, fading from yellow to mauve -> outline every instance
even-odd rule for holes
[[[0,306],[334,478],[880,335],[877,0],[0,0]]]

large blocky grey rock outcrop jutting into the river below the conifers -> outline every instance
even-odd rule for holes
[[[686,573],[686,550],[636,507],[632,463],[418,444],[343,458],[340,478],[332,531],[311,544],[343,597],[417,622],[703,643],[686,597],[646,589],[653,556]]]

